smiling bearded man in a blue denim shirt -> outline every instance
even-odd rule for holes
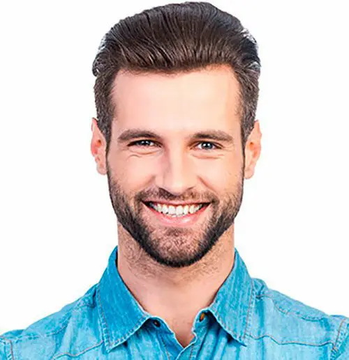
[[[260,156],[260,60],[209,3],[121,20],[94,60],[91,152],[118,246],[76,302],[0,337],[1,359],[349,359],[349,319],[251,279],[235,249]]]

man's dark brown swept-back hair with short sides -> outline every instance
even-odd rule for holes
[[[121,19],[101,41],[92,65],[98,128],[109,150],[119,70],[174,74],[230,65],[239,81],[242,144],[258,103],[260,58],[255,38],[239,19],[207,2],[170,3]]]

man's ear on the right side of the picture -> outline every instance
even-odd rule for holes
[[[261,137],[260,123],[258,120],[255,120],[255,125],[245,145],[245,179],[252,178],[255,173],[255,164],[260,157]]]

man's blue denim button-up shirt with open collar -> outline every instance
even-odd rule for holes
[[[101,281],[72,304],[0,336],[0,358],[349,359],[348,318],[322,313],[251,279],[237,249],[232,271],[214,302],[196,315],[195,336],[185,348],[162,318],[144,311],[131,295],[116,259],[117,247]]]

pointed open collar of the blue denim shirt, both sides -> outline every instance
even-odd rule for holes
[[[117,246],[110,255],[96,289],[98,314],[107,352],[124,343],[149,318],[156,318],[144,311],[128,290],[119,275],[116,260]],[[202,310],[210,311],[232,338],[247,345],[246,334],[251,325],[253,293],[253,281],[235,248],[235,260],[230,274],[219,288],[214,302]]]

